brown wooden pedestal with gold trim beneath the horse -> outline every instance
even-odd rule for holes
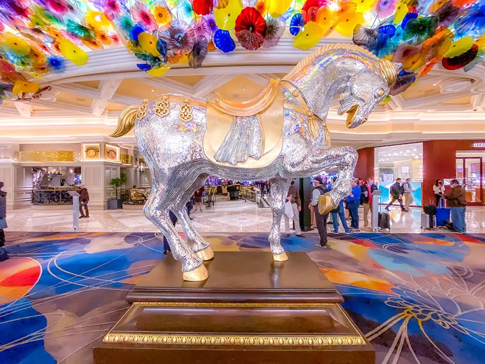
[[[306,253],[287,254],[216,252],[203,282],[164,259],[128,295],[95,364],[375,363],[335,287]]]

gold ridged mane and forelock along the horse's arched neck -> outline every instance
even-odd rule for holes
[[[326,46],[320,47],[319,49],[308,54],[300,62],[298,62],[298,64],[294,66],[293,69],[290,71],[290,73],[288,73],[283,79],[285,80],[288,77],[291,77],[296,72],[301,70],[303,66],[307,65],[308,62],[318,57],[319,55],[323,54],[327,50],[335,50],[335,49],[357,50],[361,53],[364,53],[365,55],[369,56],[369,58],[371,58],[372,60],[378,62],[379,69],[381,70],[382,74],[386,78],[386,81],[388,82],[389,86],[393,85],[396,82],[397,73],[394,66],[392,65],[392,62],[388,61],[387,59],[378,58],[371,51],[366,50],[363,47],[357,46],[356,44],[348,44],[348,43],[328,44]]]

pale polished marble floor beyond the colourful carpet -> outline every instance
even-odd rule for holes
[[[360,225],[363,225],[363,209],[359,209]],[[401,212],[391,207],[391,232],[425,232],[420,228],[420,208]],[[214,209],[193,212],[194,225],[200,232],[269,232],[271,209],[259,208],[250,201],[218,200]],[[72,231],[72,215],[68,210],[34,210],[25,208],[10,210],[7,215],[10,231],[25,232],[69,232]],[[485,232],[485,207],[469,206],[466,213],[467,231]],[[282,230],[284,224],[282,222]],[[178,231],[182,231],[177,224]],[[329,231],[331,227],[328,227]],[[340,228],[341,229],[341,228]],[[370,232],[370,228],[361,228]],[[82,232],[156,232],[158,229],[146,219],[143,210],[90,211],[90,217],[80,219]],[[439,232],[447,229],[438,228]]]

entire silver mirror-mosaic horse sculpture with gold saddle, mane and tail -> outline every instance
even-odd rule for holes
[[[205,101],[169,94],[127,108],[112,136],[135,128],[153,176],[145,215],[167,237],[182,264],[183,279],[207,279],[203,261],[214,256],[185,209],[209,175],[270,181],[271,252],[275,261],[287,260],[280,224],[291,180],[337,166],[339,177],[325,195],[326,210],[350,193],[357,153],[330,146],[325,119],[332,99],[339,96],[339,114],[347,113],[347,127],[355,128],[388,95],[396,68],[356,45],[328,45],[308,55],[282,80],[272,80],[253,100]],[[170,210],[187,242],[170,222]]]

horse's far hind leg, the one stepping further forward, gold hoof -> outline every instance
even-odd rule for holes
[[[194,226],[194,223],[189,219],[187,210],[185,209],[185,204],[190,199],[194,191],[198,190],[204,185],[209,175],[202,174],[195,178],[192,185],[185,191],[178,195],[175,201],[174,214],[177,216],[182,229],[185,233],[185,238],[190,243],[192,250],[195,255],[202,259],[203,261],[208,261],[214,258],[214,252],[207,241],[200,235]],[[179,184],[184,184],[183,182],[178,182]]]

